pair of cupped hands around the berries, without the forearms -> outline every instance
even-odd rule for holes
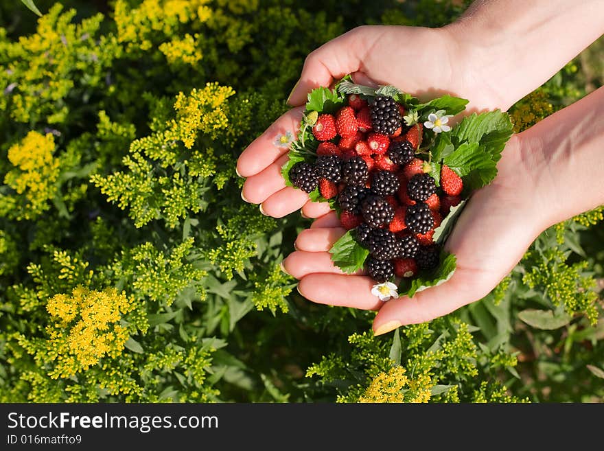
[[[543,203],[519,194],[532,192],[530,159],[518,136],[513,136],[495,180],[472,194],[446,244],[457,257],[449,281],[418,292],[413,299],[399,297],[384,303],[371,294],[374,282],[369,277],[346,275],[334,266],[328,251],[345,229],[329,205],[312,203],[300,189],[286,187],[281,167],[288,149],[276,146],[275,140],[288,132],[297,134],[307,93],[347,73],[356,83],[393,84],[421,99],[443,93],[464,97],[469,100],[465,114],[509,108],[496,86],[480,79],[463,49],[452,48],[453,42],[446,29],[386,26],[359,27],[329,41],[306,58],[288,99],[295,107],[255,139],[237,162],[237,173],[246,178],[242,198],[259,204],[262,213],[281,218],[301,209],[303,216],[315,218],[298,235],[296,251],[282,265],[299,279],[299,292],[316,303],[379,310],[373,321],[376,335],[430,321],[481,299],[511,271],[544,228],[538,220],[538,205]]]

